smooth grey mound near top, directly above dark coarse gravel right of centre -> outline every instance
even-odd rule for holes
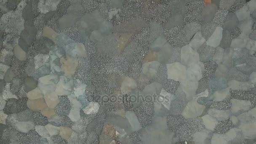
[[[174,14],[168,19],[165,28],[171,29],[180,25],[183,25],[183,16],[181,14]]]

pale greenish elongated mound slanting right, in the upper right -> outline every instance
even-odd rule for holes
[[[214,48],[219,46],[219,44],[221,43],[221,39],[222,39],[222,31],[223,31],[222,27],[216,27],[216,29],[213,32],[213,34],[211,35],[211,37],[206,41],[206,44],[210,45]]]

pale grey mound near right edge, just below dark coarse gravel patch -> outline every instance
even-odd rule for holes
[[[248,111],[251,107],[251,101],[243,101],[239,99],[231,99],[231,111],[234,115]]]

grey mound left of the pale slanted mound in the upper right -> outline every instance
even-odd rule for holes
[[[185,25],[187,40],[194,38],[195,34],[201,30],[201,25],[197,22],[191,22]]]

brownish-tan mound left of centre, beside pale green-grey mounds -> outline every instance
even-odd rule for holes
[[[61,71],[64,72],[65,75],[72,77],[75,74],[78,62],[77,59],[71,57],[62,57],[60,59],[61,62]]]

